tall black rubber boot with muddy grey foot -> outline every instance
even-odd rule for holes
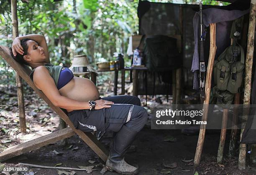
[[[124,155],[133,143],[137,133],[137,131],[128,128],[125,125],[118,131],[115,135],[106,162],[106,168],[108,170],[114,170],[121,175],[136,175],[138,173],[138,168],[129,165],[124,160]]]

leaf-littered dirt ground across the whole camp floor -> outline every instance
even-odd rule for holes
[[[164,97],[159,97],[164,101]],[[158,100],[159,100],[158,98]],[[141,97],[142,103],[145,99]],[[148,99],[148,106],[154,107],[157,99]],[[170,102],[170,101],[169,101]],[[15,90],[0,87],[0,151],[12,145],[17,145],[24,140],[31,139],[32,136],[41,136],[56,130],[59,118],[57,115],[40,100],[34,92],[27,93],[25,97],[27,132],[31,137],[22,138],[18,130],[18,105]],[[150,108],[150,107],[148,107]],[[148,109],[149,110],[149,109]],[[256,174],[256,165],[250,163],[247,154],[246,170],[238,170],[238,145],[236,156],[228,158],[228,145],[230,130],[227,131],[226,143],[224,150],[223,165],[217,163],[218,144],[220,139],[220,130],[207,130],[202,152],[200,165],[194,169],[193,159],[197,146],[198,135],[184,135],[181,130],[152,130],[148,123],[143,130],[137,135],[132,149],[126,154],[125,160],[139,167],[138,175],[254,175]],[[106,133],[101,142],[109,149],[111,143],[111,133]],[[174,142],[164,141],[166,136],[175,138]],[[68,138],[68,145],[61,146],[61,143],[55,143],[44,146],[29,153],[11,158],[0,163],[0,175],[101,175],[104,163],[100,158],[77,136]],[[176,141],[175,141],[176,140]],[[3,143],[7,141],[7,143]],[[95,162],[94,162],[95,161]],[[59,166],[69,168],[79,168],[78,166],[93,166],[93,171],[69,171],[58,172],[56,169],[35,168],[31,166],[20,165],[19,163],[28,163],[44,166]],[[58,165],[57,165],[58,164]],[[1,167],[23,167],[27,171],[10,171],[1,170]],[[172,167],[172,168],[166,168]],[[89,167],[89,169],[92,167]],[[104,170],[104,169],[103,169]],[[102,172],[102,174],[104,174]],[[105,172],[105,175],[117,175],[114,172]]]

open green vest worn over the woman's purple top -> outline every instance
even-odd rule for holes
[[[62,66],[59,65],[52,65],[47,63],[46,65],[44,65],[44,67],[47,68],[47,70],[49,71],[51,77],[54,79],[55,85],[57,87],[58,85],[58,80],[59,80],[59,75],[61,72],[61,69],[63,68]],[[34,74],[35,68],[32,70],[32,72],[30,73],[30,78],[33,81],[33,74]]]

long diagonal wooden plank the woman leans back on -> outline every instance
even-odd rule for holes
[[[33,90],[74,130],[77,135],[97,154],[99,157],[106,161],[108,159],[108,150],[93,136],[91,133],[84,133],[81,130],[77,130],[74,128],[73,123],[69,120],[67,114],[61,110],[61,108],[56,107],[52,104],[52,102],[44,95],[44,93],[37,89],[34,85],[33,81],[30,79],[29,74],[31,70],[25,66],[20,65],[16,62],[13,57],[10,55],[10,51],[8,47],[0,45],[0,55],[8,62],[8,64],[13,67],[13,69],[20,75],[20,77],[25,80],[28,85],[30,85]]]

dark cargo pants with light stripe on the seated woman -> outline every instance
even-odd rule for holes
[[[115,104],[100,110],[73,110],[68,112],[74,127],[84,132],[114,131],[118,132],[123,125],[140,131],[146,123],[148,114],[141,107],[141,100],[136,96],[117,95],[103,97],[102,100]]]

